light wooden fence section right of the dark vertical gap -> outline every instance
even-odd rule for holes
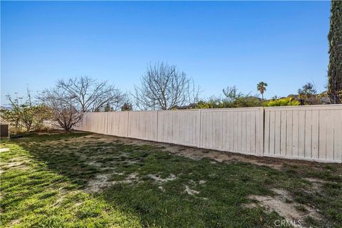
[[[342,105],[265,108],[264,156],[342,161]]]

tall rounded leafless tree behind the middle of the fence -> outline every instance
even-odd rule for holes
[[[198,94],[199,89],[184,72],[174,65],[158,62],[147,67],[133,96],[140,109],[168,110],[195,102]]]

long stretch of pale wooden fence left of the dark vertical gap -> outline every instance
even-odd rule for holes
[[[86,113],[76,130],[262,155],[262,108]]]

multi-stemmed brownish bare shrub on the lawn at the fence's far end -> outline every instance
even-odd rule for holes
[[[76,107],[78,100],[76,96],[66,93],[61,88],[44,90],[40,95],[42,102],[52,110],[53,120],[67,132],[80,122],[83,112]]]

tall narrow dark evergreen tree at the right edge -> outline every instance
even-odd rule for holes
[[[335,95],[342,90],[342,1],[331,1],[328,66],[328,93]]]

